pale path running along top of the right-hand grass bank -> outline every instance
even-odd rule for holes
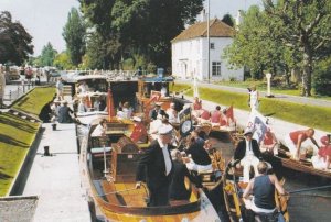
[[[192,84],[189,80],[175,80],[179,84]],[[236,87],[228,87],[222,85],[214,85],[214,84],[206,84],[206,82],[199,82],[200,87],[213,88],[213,89],[222,89],[233,92],[241,92],[246,93],[248,97],[247,89],[236,88]],[[273,92],[273,91],[271,91]],[[265,91],[259,91],[260,97],[265,97],[267,93]],[[285,100],[289,102],[297,102],[303,104],[311,104],[311,106],[319,106],[319,107],[328,107],[331,108],[331,100],[323,100],[323,99],[314,99],[314,98],[307,98],[307,97],[298,97],[298,96],[289,96],[289,95],[280,95],[280,93],[273,93],[275,99]]]

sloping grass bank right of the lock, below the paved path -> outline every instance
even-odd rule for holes
[[[181,91],[190,87],[189,85],[175,84],[173,91]],[[225,90],[199,88],[200,96],[204,100],[215,103],[231,106],[241,110],[249,111],[247,104],[247,95]],[[192,96],[192,90],[186,91]],[[260,112],[265,115],[273,115],[288,122],[306,125],[322,131],[331,132],[331,109],[323,107],[313,107],[293,102],[280,101],[273,98],[260,99]]]

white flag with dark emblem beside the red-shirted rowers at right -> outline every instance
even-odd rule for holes
[[[258,111],[253,110],[248,118],[246,130],[253,132],[253,138],[260,143],[264,140],[265,133],[268,130],[267,119]]]

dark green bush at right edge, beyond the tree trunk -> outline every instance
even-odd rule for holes
[[[331,57],[316,66],[313,87],[316,93],[331,96]]]

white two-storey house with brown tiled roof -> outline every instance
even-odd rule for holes
[[[218,19],[210,20],[210,59],[207,22],[195,23],[171,41],[172,75],[199,80],[244,80],[244,68],[229,69],[222,58],[224,48],[232,44],[235,31]],[[210,75],[207,69],[210,60]]]

